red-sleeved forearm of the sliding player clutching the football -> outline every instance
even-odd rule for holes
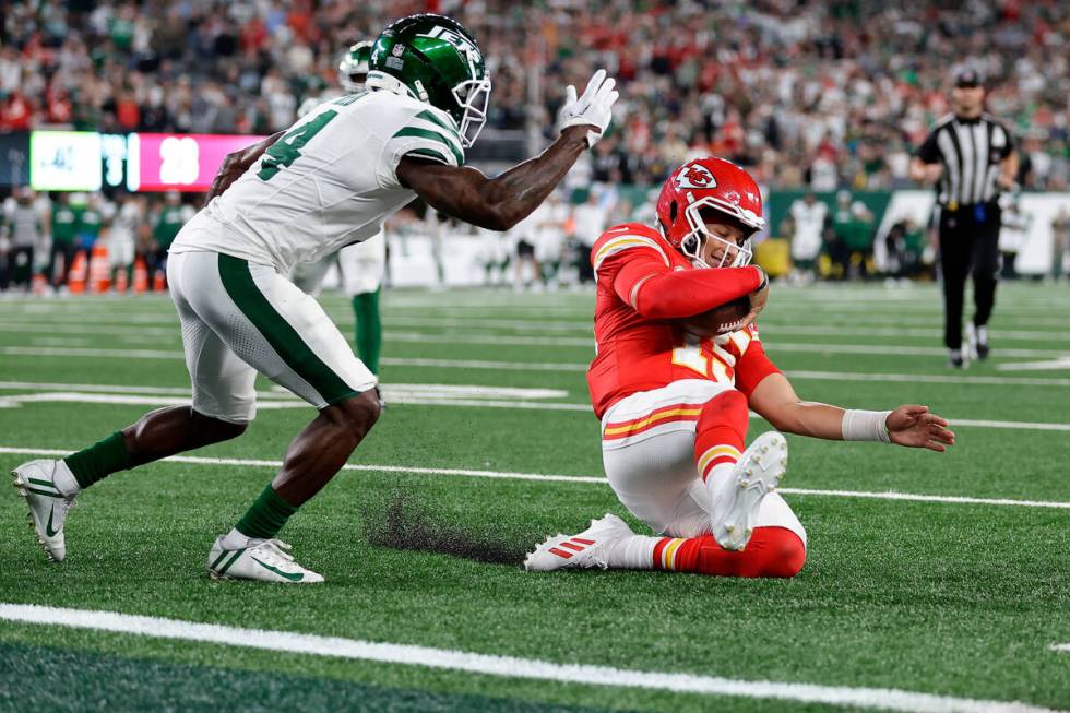
[[[637,281],[627,292],[634,290],[629,304],[643,317],[676,319],[701,314],[749,295],[761,287],[763,280],[764,273],[753,265],[686,270]]]

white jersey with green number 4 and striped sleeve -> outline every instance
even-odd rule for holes
[[[463,164],[456,122],[387,91],[320,105],[198,213],[170,251],[212,250],[286,274],[367,240],[416,198],[396,175],[406,155]]]

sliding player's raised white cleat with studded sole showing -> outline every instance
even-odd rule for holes
[[[744,549],[750,542],[758,509],[776,489],[787,470],[787,441],[776,431],[754,439],[732,472],[714,486],[710,525],[725,549]]]

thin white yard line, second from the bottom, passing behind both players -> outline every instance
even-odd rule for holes
[[[71,451],[57,449],[26,449],[15,447],[0,447],[0,454],[11,455],[69,455]],[[189,463],[192,465],[226,465],[236,467],[282,467],[282,461],[250,460],[233,457],[203,457],[198,455],[173,455],[164,459],[170,463]],[[586,485],[605,486],[605,477],[591,475],[547,475],[542,473],[516,473],[509,471],[478,471],[469,468],[429,468],[406,465],[365,465],[347,463],[342,466],[343,471],[358,471],[369,473],[403,473],[412,475],[457,475],[476,478],[490,478],[500,480],[533,480],[546,483],[580,483]],[[906,500],[913,502],[944,502],[951,504],[973,504],[973,506],[1000,506],[1020,508],[1054,508],[1057,510],[1070,510],[1070,502],[1057,502],[1045,500],[1012,500],[1009,498],[971,498],[967,496],[942,496],[942,495],[922,495],[913,492],[871,492],[865,490],[811,490],[806,488],[777,488],[780,492],[800,496],[817,496],[828,498],[863,498],[870,500]]]

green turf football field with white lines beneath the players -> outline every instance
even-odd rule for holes
[[[242,438],[83,494],[60,565],[5,489],[0,710],[1070,709],[1070,289],[1001,286],[992,358],[966,371],[939,302],[773,286],[762,338],[804,399],[928,404],[959,443],[788,436],[808,561],[757,581],[526,573],[546,535],[628,516],[586,401],[593,296],[388,293],[390,406],[281,535],[328,581],[204,570],[313,415],[263,381]],[[3,471],[188,385],[166,297],[0,300]]]

